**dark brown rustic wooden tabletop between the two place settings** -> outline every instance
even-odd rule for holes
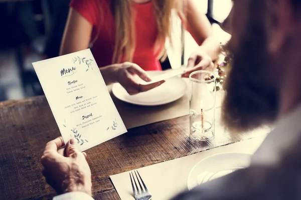
[[[45,144],[60,132],[44,96],[0,102],[0,199],[51,199],[42,176]],[[119,199],[109,175],[178,158],[256,135],[224,133],[211,142],[189,140],[189,117],[129,129],[88,149],[95,199]]]

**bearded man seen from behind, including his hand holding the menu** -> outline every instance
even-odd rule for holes
[[[301,0],[233,0],[230,16],[224,27],[232,34],[227,46],[232,68],[225,85],[223,122],[236,133],[266,124],[274,124],[275,129],[249,167],[174,199],[301,199]],[[91,172],[85,154],[73,142],[67,143],[68,157],[61,162],[51,158],[58,156],[62,139],[48,143],[42,157],[45,175],[54,180],[50,183],[67,183],[52,184],[64,185],[57,191],[69,192],[55,198],[92,199]],[[62,162],[72,163],[71,170],[51,170],[50,166]]]

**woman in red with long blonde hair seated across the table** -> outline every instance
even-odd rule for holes
[[[171,38],[171,13],[176,9],[184,27],[200,45],[188,60],[185,76],[212,67],[219,43],[211,24],[194,0],[71,0],[60,54],[91,50],[106,84],[119,82],[130,94],[142,87],[134,78],[149,81],[146,70],[162,70],[166,38]]]

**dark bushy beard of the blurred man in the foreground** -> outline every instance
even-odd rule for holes
[[[273,122],[277,116],[278,92],[269,81],[273,74],[269,71],[272,67],[263,20],[251,18],[238,46],[233,47],[231,40],[226,46],[233,58],[224,84],[222,121],[230,132],[257,128]]]

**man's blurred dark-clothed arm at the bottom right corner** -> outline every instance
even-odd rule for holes
[[[185,191],[172,200],[195,199],[301,199],[298,171],[249,167]]]

